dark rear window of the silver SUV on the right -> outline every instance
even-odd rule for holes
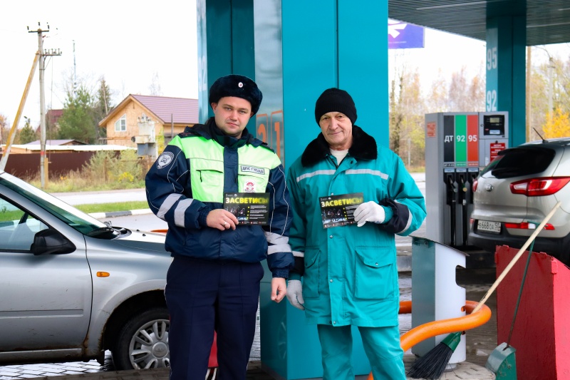
[[[481,175],[491,172],[495,178],[513,178],[541,173],[552,162],[554,150],[548,148],[512,148],[499,152]]]

